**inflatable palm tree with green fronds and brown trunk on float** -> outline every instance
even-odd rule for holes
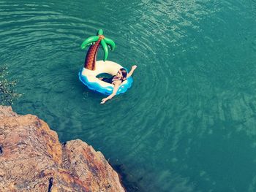
[[[102,29],[99,29],[97,32],[97,36],[92,36],[87,38],[83,44],[81,45],[82,49],[85,49],[87,46],[89,47],[89,50],[86,55],[86,60],[84,62],[84,68],[94,71],[95,70],[95,63],[97,60],[97,53],[99,50],[99,45],[102,45],[103,51],[104,51],[104,59],[103,61],[106,61],[108,58],[108,49],[114,50],[116,47],[115,42],[113,40],[108,39],[103,36]]]

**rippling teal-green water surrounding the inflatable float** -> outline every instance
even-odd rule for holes
[[[78,80],[99,28],[138,65],[104,105]],[[13,109],[102,151],[129,191],[256,191],[255,0],[0,0],[0,42]]]

